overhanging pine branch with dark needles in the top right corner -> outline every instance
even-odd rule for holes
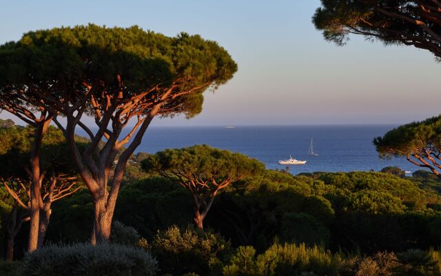
[[[433,0],[321,0],[313,21],[327,41],[344,45],[349,34],[429,50],[441,58],[440,6]]]

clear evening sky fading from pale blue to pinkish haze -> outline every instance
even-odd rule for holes
[[[218,41],[238,63],[234,78],[205,92],[197,117],[155,119],[155,126],[404,124],[440,113],[441,64],[430,52],[362,37],[344,47],[328,43],[311,23],[319,0],[0,4],[0,43],[28,30],[87,23]]]

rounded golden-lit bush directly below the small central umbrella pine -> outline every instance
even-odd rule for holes
[[[229,252],[229,243],[212,232],[190,226],[181,231],[172,226],[158,231],[150,248],[161,273],[209,275],[221,266],[220,259]]]

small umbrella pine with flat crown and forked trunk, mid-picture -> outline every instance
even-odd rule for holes
[[[196,145],[156,152],[143,161],[143,168],[189,191],[194,199],[194,222],[202,229],[214,197],[234,181],[259,177],[265,166],[236,152]]]

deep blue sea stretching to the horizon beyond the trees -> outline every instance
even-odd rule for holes
[[[290,166],[290,172],[349,172],[381,170],[398,166],[402,170],[419,168],[406,159],[384,160],[372,144],[374,137],[384,135],[395,126],[236,126],[216,127],[151,127],[137,152],[156,152],[165,148],[181,148],[207,144],[240,152],[262,161],[269,169],[284,169],[278,160],[289,155],[307,160],[305,165]],[[317,157],[307,155],[314,139]]]

